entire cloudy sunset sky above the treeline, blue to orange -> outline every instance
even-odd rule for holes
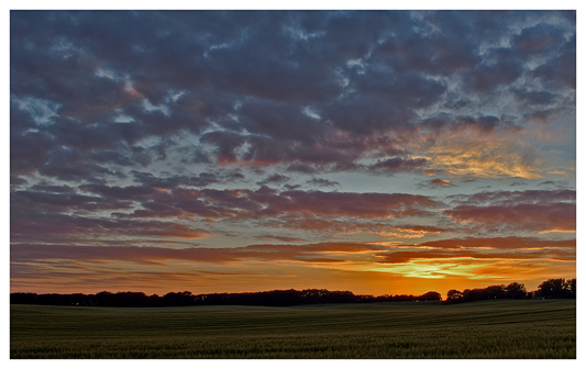
[[[10,290],[576,277],[575,11],[11,11]]]

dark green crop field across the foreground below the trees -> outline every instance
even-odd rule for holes
[[[11,305],[10,321],[13,359],[576,357],[575,300],[295,308]]]

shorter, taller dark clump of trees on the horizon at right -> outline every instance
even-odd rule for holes
[[[512,282],[508,286],[488,286],[464,291],[450,290],[444,303],[461,303],[494,299],[575,299],[576,279],[548,279],[538,290],[528,292],[523,283]]]

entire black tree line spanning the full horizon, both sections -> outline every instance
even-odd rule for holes
[[[508,286],[488,286],[486,288],[466,289],[464,291],[450,290],[443,303],[462,303],[494,299],[575,299],[576,278],[549,279],[542,282],[538,290],[528,292],[523,283],[512,282]],[[13,304],[40,305],[74,305],[74,306],[119,306],[119,308],[161,308],[161,306],[192,306],[192,305],[262,305],[262,306],[292,306],[305,304],[330,303],[366,303],[394,301],[441,301],[439,292],[429,291],[421,295],[413,294],[354,294],[351,291],[329,290],[273,290],[264,292],[241,293],[204,293],[192,294],[189,291],[169,292],[159,297],[147,295],[144,292],[109,292],[96,294],[84,293],[29,293],[15,292],[10,294]]]

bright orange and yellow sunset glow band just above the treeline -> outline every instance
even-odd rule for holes
[[[342,257],[344,262],[307,262],[303,260],[242,260],[237,262],[194,262],[167,260],[129,265],[120,261],[77,262],[76,272],[67,277],[58,260],[35,266],[42,278],[11,276],[11,292],[97,293],[108,290],[143,291],[165,294],[191,291],[255,292],[278,289],[350,290],[356,294],[422,294],[450,289],[484,288],[517,281],[528,290],[549,278],[574,278],[574,261],[548,259],[416,259],[402,264],[368,261],[369,253],[323,253]],[[354,258],[358,256],[358,258]],[[352,260],[354,259],[354,260]],[[67,264],[66,260],[63,261]],[[52,275],[52,271],[59,273]]]

